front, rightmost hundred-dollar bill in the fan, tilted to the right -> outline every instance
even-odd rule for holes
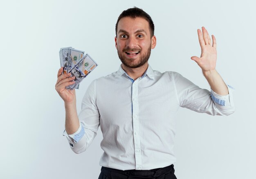
[[[75,76],[75,83],[69,85],[70,89],[74,89],[82,80],[85,78],[94,68],[98,65],[97,63],[89,56],[85,54],[83,58],[70,70],[72,76]]]

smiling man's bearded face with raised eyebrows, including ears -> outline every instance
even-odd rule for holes
[[[119,20],[115,44],[121,62],[126,67],[137,68],[148,62],[156,38],[151,38],[148,21],[144,18],[125,17]]]

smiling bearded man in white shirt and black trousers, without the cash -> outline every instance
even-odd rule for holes
[[[88,148],[103,133],[99,179],[176,179],[173,163],[175,115],[179,107],[211,115],[234,112],[231,88],[216,66],[216,39],[198,29],[201,57],[192,60],[201,67],[211,92],[194,85],[176,72],[160,73],[148,65],[156,46],[154,24],[137,7],[123,11],[116,24],[115,46],[122,62],[119,70],[94,80],[88,87],[79,117],[75,90],[65,86],[74,82],[70,74],[58,71],[56,90],[65,102],[63,135],[76,153]]]

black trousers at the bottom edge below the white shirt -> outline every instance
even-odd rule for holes
[[[98,179],[177,179],[174,171],[173,164],[152,170],[117,170],[101,167]]]

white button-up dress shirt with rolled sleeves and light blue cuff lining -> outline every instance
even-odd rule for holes
[[[122,67],[89,85],[79,114],[79,129],[65,131],[75,153],[85,151],[99,126],[103,134],[100,166],[119,170],[150,170],[176,161],[173,154],[179,107],[211,115],[234,112],[232,87],[220,96],[201,89],[176,72],[148,69],[135,81]]]

